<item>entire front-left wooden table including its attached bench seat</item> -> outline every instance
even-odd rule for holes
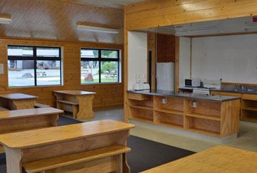
[[[129,173],[126,142],[133,127],[100,120],[0,135],[7,173]]]

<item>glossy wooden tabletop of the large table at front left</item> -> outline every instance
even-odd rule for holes
[[[36,147],[81,139],[83,137],[105,135],[112,132],[129,130],[133,127],[134,125],[125,122],[100,120],[4,134],[0,135],[0,143],[11,148]]]

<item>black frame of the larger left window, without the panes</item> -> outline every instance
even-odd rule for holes
[[[61,69],[61,47],[53,47],[53,46],[19,46],[19,45],[8,45],[7,51],[9,47],[24,47],[24,48],[32,48],[33,49],[33,56],[9,56],[7,53],[7,61],[13,60],[13,61],[34,61],[34,85],[28,85],[28,86],[15,86],[16,87],[37,87],[37,86],[59,86],[62,85],[62,69]],[[58,48],[59,49],[59,57],[47,57],[47,56],[37,56],[36,55],[36,48]],[[56,85],[37,85],[36,81],[36,61],[60,61],[60,84]],[[8,84],[9,85],[9,84]]]

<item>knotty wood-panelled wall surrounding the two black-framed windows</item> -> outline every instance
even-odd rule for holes
[[[7,45],[27,46],[59,46],[62,48],[63,80],[61,86],[9,88],[7,69]],[[123,105],[123,83],[81,85],[80,48],[116,48],[123,49],[122,45],[104,43],[73,43],[60,41],[29,41],[19,39],[0,39],[0,63],[4,63],[4,75],[0,75],[0,93],[27,93],[38,95],[38,102],[55,105],[52,90],[89,90],[96,92],[94,108],[107,108]],[[123,56],[122,56],[123,57]],[[122,61],[122,58],[121,58]]]

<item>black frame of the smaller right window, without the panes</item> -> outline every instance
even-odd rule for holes
[[[117,62],[118,63],[118,71],[117,71],[117,82],[110,82],[110,83],[120,83],[120,50],[119,49],[106,49],[106,48],[81,48],[81,51],[83,50],[89,50],[89,51],[98,51],[98,58],[84,58],[81,57],[81,61],[97,61],[99,62],[99,83],[101,83],[101,62]],[[101,57],[101,51],[116,51],[117,52],[117,58],[102,58]],[[90,85],[90,84],[97,84],[97,83],[81,83],[81,85]],[[105,83],[101,83],[105,84]],[[109,83],[106,83],[109,84]]]

